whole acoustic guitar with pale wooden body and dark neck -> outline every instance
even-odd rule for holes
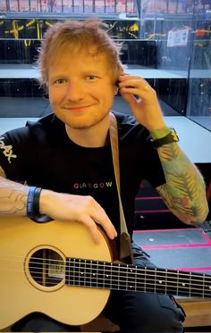
[[[211,297],[211,276],[114,262],[101,229],[95,244],[77,222],[0,219],[0,329],[30,312],[82,325],[102,312],[110,290]]]

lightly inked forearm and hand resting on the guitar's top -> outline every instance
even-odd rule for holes
[[[30,187],[5,179],[0,167],[0,216],[26,216],[26,205]],[[53,220],[80,221],[98,242],[100,224],[111,239],[117,236],[112,221],[105,210],[91,196],[73,196],[43,189],[39,201],[40,213]]]

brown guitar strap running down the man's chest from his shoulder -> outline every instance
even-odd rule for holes
[[[114,175],[115,182],[117,187],[117,193],[119,198],[119,207],[120,207],[120,260],[122,262],[131,262],[133,261],[133,255],[131,250],[131,236],[128,233],[126,221],[124,218],[122,200],[121,200],[121,191],[120,191],[120,164],[119,164],[119,140],[118,140],[118,129],[117,121],[113,112],[109,114],[109,135],[112,148],[112,158],[114,164]]]

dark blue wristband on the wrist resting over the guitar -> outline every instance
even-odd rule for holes
[[[27,216],[38,223],[45,223],[52,221],[52,219],[39,213],[39,198],[42,191],[41,187],[30,187],[30,191],[27,198]]]

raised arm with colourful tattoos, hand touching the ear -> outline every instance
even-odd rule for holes
[[[165,137],[169,129],[165,125],[156,91],[148,85],[148,81],[126,73],[120,75],[119,81],[122,98],[131,107],[139,124],[148,129],[154,140]],[[205,184],[197,168],[176,143],[157,150],[166,180],[165,185],[157,187],[157,190],[165,204],[185,223],[205,221],[208,212]]]

